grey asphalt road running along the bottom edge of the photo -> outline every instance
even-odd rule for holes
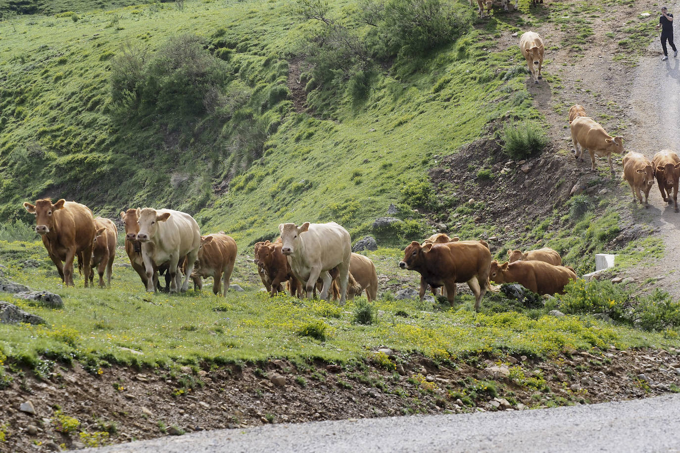
[[[273,424],[86,450],[202,452],[680,452],[680,395],[555,407]]]

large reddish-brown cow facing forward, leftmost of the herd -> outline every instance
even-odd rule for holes
[[[52,204],[50,198],[35,204],[24,202],[24,208],[35,214],[35,232],[42,238],[61,280],[67,286],[73,283],[73,259],[81,255],[85,287],[88,287],[92,244],[95,241],[95,219],[84,204],[63,198]]]

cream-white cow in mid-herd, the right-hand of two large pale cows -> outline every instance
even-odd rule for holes
[[[333,278],[328,271],[337,266],[340,278],[340,303],[345,304],[347,281],[350,278],[350,233],[335,222],[279,224],[283,241],[282,253],[294,276],[304,283],[307,297],[313,292],[316,280],[321,276],[324,287],[321,298],[327,299]]]

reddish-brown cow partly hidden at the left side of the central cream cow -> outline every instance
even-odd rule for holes
[[[284,282],[288,282],[290,295],[301,297],[302,284],[293,275],[288,259],[281,251],[282,247],[283,243],[280,240],[275,242],[266,240],[255,244],[255,264],[258,270],[262,269],[262,273],[267,276],[267,282],[262,278],[262,283],[267,287],[271,297],[284,291],[282,287]],[[260,274],[261,277],[262,274]]]

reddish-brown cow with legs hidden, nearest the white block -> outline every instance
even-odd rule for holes
[[[489,278],[496,283],[519,283],[537,294],[564,293],[569,280],[576,280],[573,269],[553,266],[543,261],[515,261],[499,264],[494,259]]]

